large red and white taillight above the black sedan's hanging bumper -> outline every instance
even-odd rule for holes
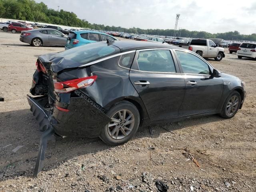
[[[86,88],[91,86],[97,76],[82,77],[78,79],[68,80],[64,82],[54,82],[54,90],[57,93],[68,93],[78,88]]]

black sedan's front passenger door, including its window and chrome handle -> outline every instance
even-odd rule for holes
[[[179,116],[216,110],[224,86],[222,79],[213,78],[213,68],[196,54],[184,50],[175,52],[186,84]]]

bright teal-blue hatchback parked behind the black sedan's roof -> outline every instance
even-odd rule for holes
[[[106,41],[107,38],[109,40],[118,40],[113,36],[110,36],[102,32],[97,32],[97,31],[91,31],[91,30],[70,31],[68,34],[65,50],[68,50],[73,47],[79,47],[81,45],[85,45],[88,43]]]

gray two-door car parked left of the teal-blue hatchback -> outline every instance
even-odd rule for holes
[[[58,30],[42,28],[22,31],[20,41],[36,47],[40,47],[42,45],[65,46],[67,37],[68,36]]]

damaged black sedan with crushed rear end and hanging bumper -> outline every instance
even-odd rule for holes
[[[232,118],[244,82],[220,73],[194,52],[167,44],[98,42],[38,57],[28,96],[47,139],[100,137],[120,145],[140,126],[210,114]],[[40,96],[39,96],[40,95]]]

